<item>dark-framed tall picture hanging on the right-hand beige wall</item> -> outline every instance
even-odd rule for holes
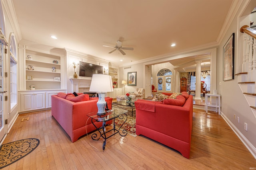
[[[223,47],[223,81],[234,79],[235,33],[232,33]]]

